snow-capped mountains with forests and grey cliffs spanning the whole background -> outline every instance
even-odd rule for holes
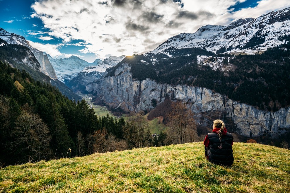
[[[54,59],[0,28],[0,59],[43,73],[30,74],[74,100],[80,99],[75,93],[90,93],[95,104],[112,111],[149,114],[166,100],[181,100],[199,127],[221,118],[231,125],[230,132],[262,140],[290,133],[289,26],[286,8],[227,26],[202,26],[195,33],[170,37],[145,54],[92,63],[76,56]]]

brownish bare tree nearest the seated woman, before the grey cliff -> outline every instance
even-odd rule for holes
[[[180,144],[195,141],[197,137],[196,123],[191,110],[188,110],[181,101],[174,103],[172,109],[167,115],[169,132],[173,133]]]

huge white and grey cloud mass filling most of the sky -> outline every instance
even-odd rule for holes
[[[82,40],[82,53],[132,55],[156,48],[179,33],[194,33],[202,25],[227,25],[239,18],[257,17],[290,6],[289,0],[261,0],[256,8],[229,13],[245,0],[82,0],[36,1],[31,7],[48,35],[69,43]],[[255,11],[254,11],[255,10]]]

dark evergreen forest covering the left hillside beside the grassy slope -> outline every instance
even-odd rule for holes
[[[125,124],[2,61],[0,74],[0,165],[88,155]]]

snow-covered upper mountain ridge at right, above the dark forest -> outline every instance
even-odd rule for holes
[[[253,46],[261,45],[261,49],[265,50],[267,47],[284,43],[284,36],[290,33],[289,26],[290,8],[286,8],[256,19],[239,19],[228,26],[205,25],[195,33],[181,33],[170,37],[149,53],[166,54],[166,49],[199,47],[212,52],[224,50],[222,52],[252,54],[257,52],[251,51]]]

